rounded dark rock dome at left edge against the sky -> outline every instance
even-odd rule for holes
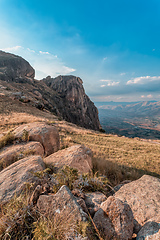
[[[0,79],[15,81],[16,78],[34,78],[35,71],[23,58],[0,51]]]

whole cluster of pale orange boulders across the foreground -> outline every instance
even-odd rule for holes
[[[84,192],[82,184],[79,189],[73,185],[72,191],[63,185],[55,193],[60,180],[46,173],[46,166],[56,172],[68,166],[76,168],[81,176],[89,174],[91,150],[82,145],[59,150],[57,129],[44,122],[24,124],[13,135],[13,144],[0,152],[0,163],[4,164],[0,171],[1,205],[19,196],[30,184],[33,191],[28,205],[53,222],[60,219],[75,226],[91,220],[106,240],[131,240],[134,233],[137,240],[160,239],[160,179],[144,175],[121,184],[109,197],[98,191]],[[0,219],[0,227],[2,224]],[[77,235],[73,227],[67,239],[88,238]]]

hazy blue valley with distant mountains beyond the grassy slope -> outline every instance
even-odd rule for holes
[[[106,133],[160,139],[160,102],[95,103]]]

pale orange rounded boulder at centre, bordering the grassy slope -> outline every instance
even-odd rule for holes
[[[92,170],[92,152],[83,145],[73,145],[44,158],[44,162],[56,168],[69,166],[79,173],[88,173]]]

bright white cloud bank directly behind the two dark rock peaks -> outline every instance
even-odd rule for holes
[[[3,51],[8,51],[23,57],[35,69],[36,79],[42,79],[48,75],[56,77],[75,72],[76,69],[66,66],[66,64],[58,58],[57,55],[49,52],[42,52],[24,48],[22,46],[14,46],[3,48]]]

